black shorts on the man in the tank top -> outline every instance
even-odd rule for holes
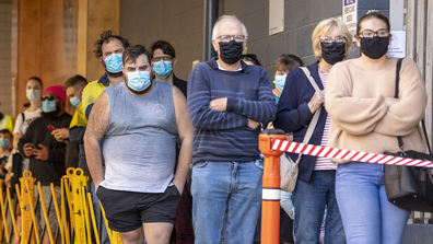
[[[113,190],[100,186],[96,191],[104,207],[109,229],[130,232],[142,223],[176,222],[180,194],[176,186],[168,186],[162,194]]]

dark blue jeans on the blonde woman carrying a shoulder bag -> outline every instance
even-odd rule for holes
[[[294,234],[296,244],[319,243],[325,206],[325,244],[346,243],[344,230],[338,209],[336,171],[313,171],[309,182],[297,181],[292,194],[294,202]]]

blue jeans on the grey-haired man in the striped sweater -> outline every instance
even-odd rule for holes
[[[198,162],[192,167],[192,221],[197,244],[253,243],[260,205],[262,161]]]

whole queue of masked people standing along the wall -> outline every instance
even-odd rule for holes
[[[30,106],[14,130],[0,114],[0,159],[8,162],[0,174],[11,187],[15,172],[28,169],[49,202],[49,184],[59,191],[66,167],[83,169],[96,213],[101,201],[125,244],[260,243],[261,130],[282,129],[303,142],[319,113],[311,144],[397,152],[401,136],[407,149],[424,151],[423,79],[405,58],[394,97],[388,19],[370,11],[356,26],[360,58],[344,60],[352,35],[338,19],[321,21],[312,33],[317,61],[306,67],[321,91],[295,55],[277,59],[272,90],[257,56],[243,55],[248,33],[234,15],[216,21],[218,56],[196,65],[188,82],[173,72],[169,43],[148,50],[104,32],[94,51],[105,68],[98,80],[74,75],[42,92],[43,81],[32,77]],[[309,155],[293,193],[281,191],[281,207],[280,241],[300,244],[399,243],[410,213],[387,200],[383,165]],[[57,230],[54,208],[49,219]],[[106,230],[101,235],[109,243]]]

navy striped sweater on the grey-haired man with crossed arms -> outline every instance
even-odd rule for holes
[[[276,117],[268,73],[241,61],[241,71],[218,68],[216,59],[196,65],[188,78],[188,112],[194,130],[192,162],[249,162],[259,159],[260,127]],[[209,108],[212,100],[227,97],[226,112]]]

